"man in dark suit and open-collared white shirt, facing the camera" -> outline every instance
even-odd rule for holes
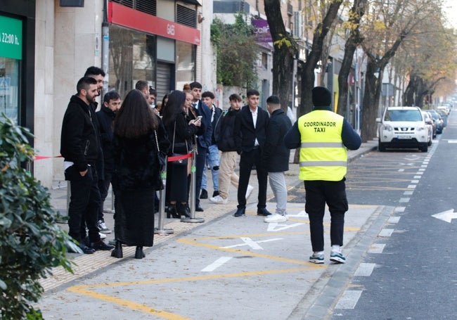
[[[250,89],[246,93],[245,105],[235,118],[236,152],[240,155],[240,181],[238,185],[238,210],[233,217],[243,217],[246,209],[246,191],[252,167],[255,165],[259,181],[257,215],[271,215],[266,210],[267,172],[260,155],[266,141],[266,127],[269,115],[259,108],[259,91]]]

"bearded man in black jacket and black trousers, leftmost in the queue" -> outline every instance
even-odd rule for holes
[[[96,161],[100,155],[100,141],[94,125],[96,115],[91,108],[91,103],[94,103],[97,96],[96,79],[79,79],[77,94],[70,98],[63,116],[60,137],[60,154],[64,158],[65,179],[71,182],[68,233],[79,243],[79,248],[84,253],[114,248],[101,241],[97,228],[101,199]],[[90,247],[84,243],[84,222],[89,229]]]

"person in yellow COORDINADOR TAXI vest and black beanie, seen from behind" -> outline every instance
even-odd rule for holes
[[[332,93],[312,89],[314,110],[302,115],[285,135],[287,148],[300,147],[300,180],[304,181],[313,254],[309,262],[324,263],[323,216],[330,211],[330,261],[345,263],[342,255],[345,213],[348,210],[345,175],[347,149],[357,150],[361,137],[341,115],[333,112]]]

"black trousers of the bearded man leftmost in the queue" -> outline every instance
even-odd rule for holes
[[[88,167],[81,177],[74,165],[65,170],[65,179],[70,180],[71,196],[68,207],[68,234],[81,242],[86,236],[84,222],[89,229],[91,242],[100,241],[97,218],[101,196],[98,190],[98,175],[95,166]]]

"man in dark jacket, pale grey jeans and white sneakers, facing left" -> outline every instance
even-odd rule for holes
[[[264,222],[288,221],[286,205],[288,191],[284,172],[289,169],[290,149],[285,148],[284,136],[292,127],[289,117],[281,109],[278,96],[266,99],[270,122],[266,127],[266,142],[262,152],[262,162],[268,171],[271,190],[276,198],[276,212],[265,217]]]

